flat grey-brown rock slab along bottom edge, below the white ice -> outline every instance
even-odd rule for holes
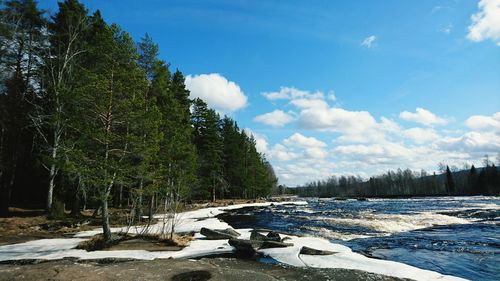
[[[38,264],[0,264],[0,280],[391,281],[403,279],[358,270],[294,268],[263,264],[251,260],[214,258],[198,261],[182,259],[120,261],[108,259],[107,263],[97,260],[64,259]]]

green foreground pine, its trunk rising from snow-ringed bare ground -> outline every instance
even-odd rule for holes
[[[130,36],[108,26],[97,11],[91,18],[79,85],[75,88],[71,128],[73,167],[95,188],[102,208],[104,239],[111,240],[108,200],[113,185],[134,184],[137,166],[127,161],[141,155],[147,82],[137,64]]]

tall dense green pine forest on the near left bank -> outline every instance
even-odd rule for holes
[[[134,42],[77,0],[50,16],[33,0],[0,5],[3,215],[13,204],[100,206],[109,237],[108,204],[140,218],[276,185],[253,137],[191,100],[147,34]]]

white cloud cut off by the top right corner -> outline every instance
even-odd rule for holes
[[[474,42],[490,39],[500,44],[500,0],[481,0],[479,11],[471,16],[467,38]]]

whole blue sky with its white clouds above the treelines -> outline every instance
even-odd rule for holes
[[[281,183],[500,152],[500,0],[82,2],[149,33]]]

